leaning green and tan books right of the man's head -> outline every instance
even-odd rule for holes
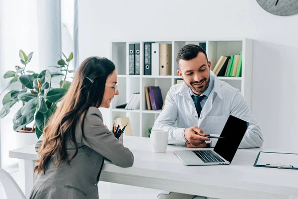
[[[231,56],[221,56],[213,68],[217,76],[222,77],[241,77],[242,52]]]

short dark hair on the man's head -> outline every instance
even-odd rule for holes
[[[177,58],[176,58],[176,62],[178,64],[178,66],[179,66],[180,59],[186,60],[186,61],[194,59],[198,56],[198,54],[200,52],[204,53],[204,55],[206,56],[207,62],[208,62],[206,51],[201,46],[198,46],[195,44],[188,44],[188,45],[183,46],[179,50]]]

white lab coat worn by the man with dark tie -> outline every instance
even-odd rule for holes
[[[168,142],[184,143],[184,129],[198,126],[205,133],[221,134],[229,115],[249,122],[247,131],[239,148],[255,148],[263,145],[263,135],[252,111],[248,107],[239,89],[235,89],[210,71],[214,77],[214,88],[211,91],[200,118],[190,96],[187,85],[183,82],[173,85],[166,95],[163,110],[152,127],[169,131]],[[176,124],[176,125],[175,125]],[[212,147],[217,139],[212,139]]]

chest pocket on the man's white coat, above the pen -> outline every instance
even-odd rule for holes
[[[207,132],[205,133],[220,135],[224,129],[228,116],[229,115],[206,116]]]

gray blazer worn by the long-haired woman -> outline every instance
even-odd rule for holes
[[[78,153],[70,165],[61,163],[55,170],[51,160],[45,170],[37,176],[30,199],[98,199],[97,183],[104,157],[119,167],[131,167],[134,163],[132,152],[120,143],[103,124],[98,108],[89,107],[84,120],[86,140],[81,144],[81,128],[78,122],[75,136],[79,146]],[[42,143],[42,136],[35,149]],[[67,154],[74,153],[74,144],[67,140]]]

